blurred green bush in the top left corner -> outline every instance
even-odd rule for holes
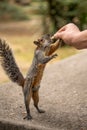
[[[10,4],[7,1],[0,2],[0,21],[27,20],[29,17],[21,7]]]

